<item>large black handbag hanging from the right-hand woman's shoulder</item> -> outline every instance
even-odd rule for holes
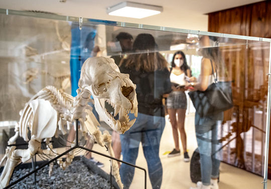
[[[213,115],[233,107],[231,81],[217,81],[217,73],[214,74],[213,64],[212,74],[215,82],[210,84],[205,91],[196,90],[188,93],[196,112],[201,117]]]

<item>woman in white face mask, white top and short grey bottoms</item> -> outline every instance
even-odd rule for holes
[[[187,106],[184,86],[186,84],[185,77],[191,77],[191,70],[187,65],[185,54],[182,51],[177,51],[174,53],[171,64],[172,70],[170,74],[170,80],[172,82],[173,91],[167,98],[167,108],[172,125],[175,148],[168,154],[168,157],[181,154],[179,146],[179,129],[184,150],[184,161],[189,162],[189,155],[186,148],[186,133],[184,128],[185,112]],[[176,113],[178,117],[176,117]]]

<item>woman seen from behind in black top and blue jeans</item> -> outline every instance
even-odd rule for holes
[[[163,95],[171,92],[168,62],[157,51],[157,44],[151,34],[142,33],[135,38],[133,54],[120,62],[119,69],[128,73],[137,85],[138,117],[133,126],[120,135],[123,161],[135,164],[140,142],[147,160],[149,177],[153,188],[160,188],[163,168],[159,157],[161,136],[165,127]],[[133,119],[132,114],[129,115]],[[129,188],[134,167],[124,163],[120,176],[124,188]]]

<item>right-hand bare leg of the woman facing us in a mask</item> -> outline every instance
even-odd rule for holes
[[[184,128],[185,112],[186,112],[186,109],[177,109],[178,128],[179,128],[179,131],[180,131],[181,141],[182,141],[184,152],[186,152],[186,150],[187,150],[187,148],[186,148],[186,133],[185,133],[185,128]]]

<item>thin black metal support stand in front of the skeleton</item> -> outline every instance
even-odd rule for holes
[[[3,189],[10,188],[11,186],[17,184],[17,183],[20,182],[21,180],[23,180],[23,179],[29,177],[31,174],[36,173],[38,170],[42,169],[42,168],[45,167],[46,165],[48,165],[48,164],[54,162],[54,161],[57,160],[58,158],[62,157],[63,155],[67,154],[68,152],[70,152],[70,151],[72,151],[72,150],[74,150],[74,149],[77,149],[77,148],[81,148],[81,149],[84,149],[84,150],[86,150],[86,151],[90,151],[90,152],[92,152],[92,153],[96,153],[96,154],[102,155],[102,156],[104,156],[104,157],[108,157],[108,158],[110,158],[110,159],[114,159],[114,160],[116,160],[116,161],[119,161],[119,162],[125,163],[125,164],[127,164],[127,165],[133,166],[133,167],[135,167],[135,168],[139,168],[139,169],[144,170],[144,174],[145,174],[145,180],[144,180],[144,185],[145,185],[145,187],[144,187],[144,188],[147,189],[147,171],[146,171],[145,168],[142,168],[142,167],[140,167],[140,166],[137,166],[137,165],[134,165],[134,164],[131,164],[131,163],[128,163],[128,162],[119,160],[119,159],[116,159],[115,157],[111,157],[111,156],[109,156],[109,155],[105,155],[105,154],[100,153],[100,152],[98,152],[98,151],[94,151],[94,150],[92,150],[92,149],[88,149],[88,148],[86,148],[86,147],[84,147],[84,146],[80,146],[80,145],[79,145],[79,139],[78,139],[78,136],[79,136],[79,134],[78,134],[78,128],[79,128],[78,125],[79,125],[79,121],[78,121],[78,119],[76,119],[76,141],[75,141],[75,146],[74,146],[74,147],[72,147],[72,148],[66,150],[65,152],[61,153],[61,154],[58,155],[57,157],[55,157],[55,158],[49,160],[47,163],[44,163],[43,165],[39,166],[38,168],[34,169],[33,171],[31,171],[31,172],[29,172],[28,174],[24,175],[23,177],[19,178],[18,180],[16,180],[16,181],[10,183],[8,186],[4,187]],[[111,174],[111,172],[110,172],[110,174]],[[110,178],[111,178],[111,176],[110,176]]]

